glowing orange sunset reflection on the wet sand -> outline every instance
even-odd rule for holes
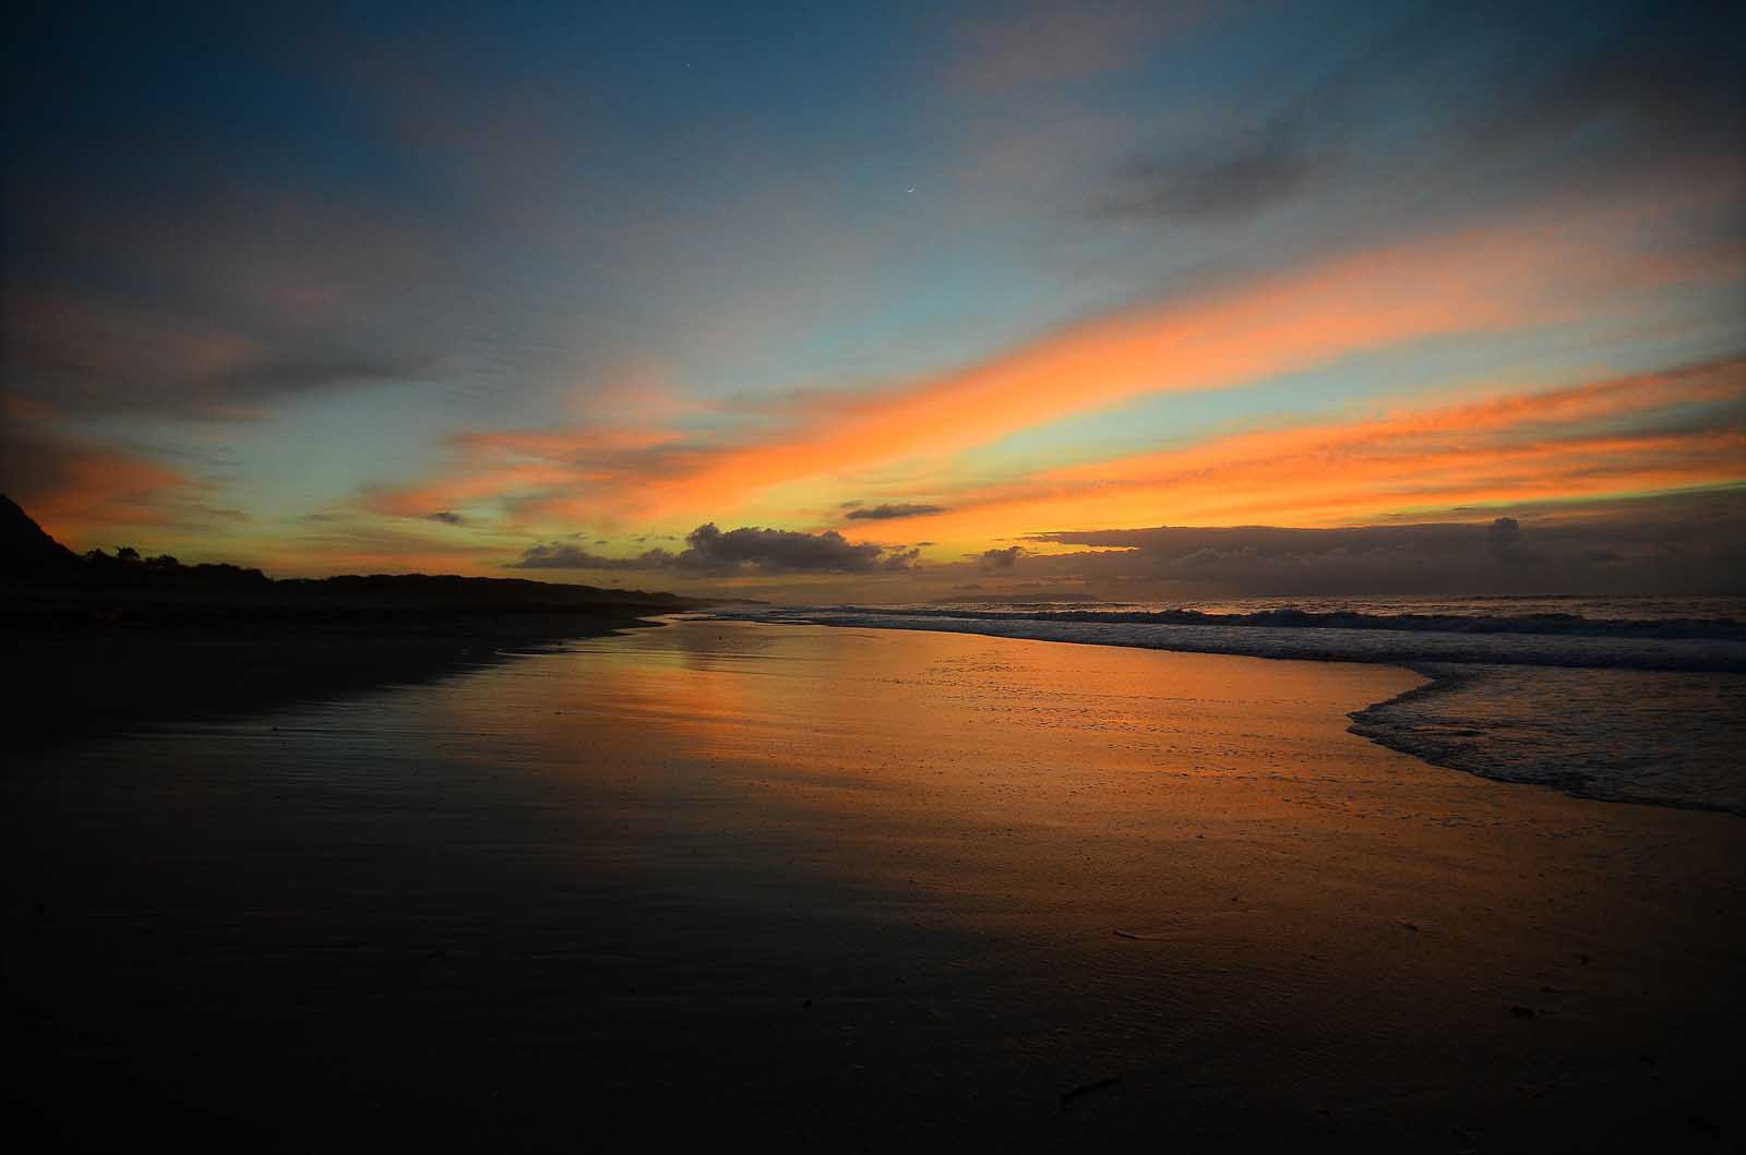
[[[499,680],[513,689],[482,693]],[[1568,963],[1636,885],[1589,857],[1626,820],[1704,825],[1681,853],[1732,853],[1725,817],[1575,803],[1346,733],[1348,712],[1416,684],[1371,665],[686,621],[506,666],[447,696],[445,726],[499,735],[475,743],[482,780],[576,799],[578,864],[730,904],[981,928],[1072,965],[1131,949],[1112,928],[1168,942],[1144,960],[1182,974],[1283,960],[1280,986],[1231,1008],[1259,1021],[1292,1014],[1269,1000],[1290,998],[1306,956],[1339,958],[1311,970],[1376,998],[1404,912],[1463,953],[1463,982],[1500,951]],[[1538,925],[1552,892],[1556,940]]]

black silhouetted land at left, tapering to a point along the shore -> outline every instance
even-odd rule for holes
[[[9,747],[417,682],[702,605],[520,578],[272,579],[134,548],[79,555],[3,495],[0,598],[21,675]]]

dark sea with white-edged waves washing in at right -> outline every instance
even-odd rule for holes
[[[1428,680],[1351,731],[1486,778],[1746,815],[1746,597],[733,607],[721,618],[1369,661]]]

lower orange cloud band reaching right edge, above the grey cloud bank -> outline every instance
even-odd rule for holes
[[[1723,485],[1746,480],[1737,413],[1702,429],[1676,419],[1741,401],[1746,358],[1055,469],[952,495],[953,513],[906,529],[974,539],[1093,525],[1343,525],[1402,509]],[[1612,431],[1617,422],[1652,427]]]

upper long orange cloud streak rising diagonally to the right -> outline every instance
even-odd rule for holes
[[[779,487],[822,495],[897,466],[911,478],[950,476],[950,457],[966,448],[1147,394],[1238,387],[1433,337],[1589,319],[1626,293],[1715,276],[1702,256],[1685,267],[1620,244],[1617,236],[1636,236],[1629,223],[1641,222],[1533,218],[1323,260],[1069,326],[897,389],[796,405],[753,441],[592,427],[464,434],[459,476],[377,494],[372,506],[423,515],[498,501],[517,522],[595,527],[733,516]],[[1509,415],[1510,403],[1498,405]]]

